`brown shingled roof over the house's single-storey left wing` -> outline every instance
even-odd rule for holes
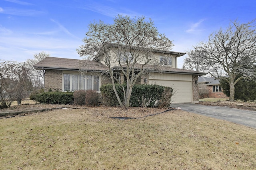
[[[57,58],[57,57],[46,57],[39,63],[34,65],[35,69],[43,69],[43,70],[80,70],[80,63],[85,60],[78,59],[65,59],[65,58]],[[86,65],[86,70],[92,71],[105,71],[106,66],[97,61],[89,61],[86,60],[84,62]]]

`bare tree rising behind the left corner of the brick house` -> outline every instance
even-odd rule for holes
[[[32,79],[33,86],[35,88],[38,88],[38,87],[42,88],[43,87],[43,83],[44,83],[44,70],[36,70],[34,68],[34,64],[42,61],[46,57],[50,57],[50,54],[42,51],[42,52],[40,52],[38,54],[35,54],[34,55],[34,59],[28,59],[26,61],[26,63],[30,67],[31,79]]]

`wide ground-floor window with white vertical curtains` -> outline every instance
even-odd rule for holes
[[[81,74],[63,74],[63,91],[96,90],[99,91],[99,76]]]

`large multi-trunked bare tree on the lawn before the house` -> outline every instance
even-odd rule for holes
[[[122,15],[117,16],[113,24],[103,21],[90,23],[83,42],[84,45],[77,49],[78,53],[108,67],[113,90],[122,107],[130,106],[130,96],[136,80],[150,71],[145,65],[159,63],[152,52],[167,51],[173,46],[170,39],[158,32],[151,19],[146,21],[144,17],[130,18]],[[126,88],[122,88],[124,104],[114,86],[119,82],[120,73],[126,77]]]

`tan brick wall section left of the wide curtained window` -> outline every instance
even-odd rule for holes
[[[62,91],[62,70],[45,70],[44,91]]]

